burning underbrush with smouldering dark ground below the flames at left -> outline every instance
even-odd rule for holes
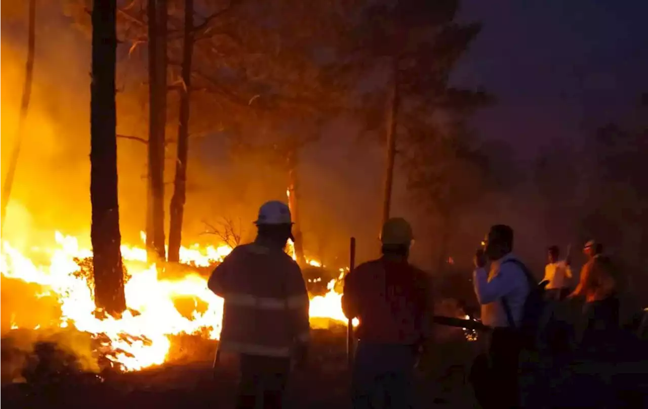
[[[128,309],[115,319],[95,315],[92,253],[75,238],[56,233],[47,249],[18,250],[3,243],[2,380],[29,379],[33,371],[42,372],[30,369],[39,368],[33,362],[42,367],[51,357],[57,363],[50,362],[48,368],[62,373],[137,371],[205,359],[220,335],[223,307],[222,299],[207,289],[205,272],[229,251],[227,246],[182,248],[181,266],[159,271],[146,262],[143,248],[123,245]],[[326,293],[312,298],[313,327],[345,320],[335,285],[331,280]]]

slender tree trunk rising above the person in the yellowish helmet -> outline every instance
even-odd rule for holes
[[[399,60],[393,58],[391,67],[391,83],[389,84],[389,99],[387,105],[387,160],[385,164],[385,187],[382,201],[382,225],[389,219],[391,208],[391,190],[394,181],[394,162],[396,159],[396,129],[399,113]]]

